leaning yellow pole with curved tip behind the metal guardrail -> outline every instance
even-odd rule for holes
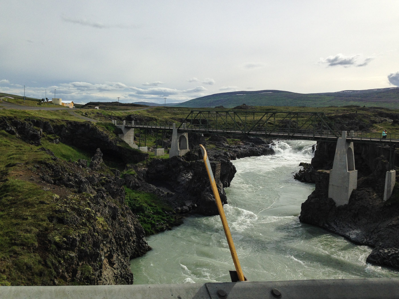
[[[245,277],[243,274],[243,270],[241,269],[240,262],[238,260],[237,252],[234,247],[234,242],[233,238],[231,238],[231,233],[229,229],[229,224],[227,223],[226,215],[223,210],[223,205],[219,197],[219,191],[217,190],[216,187],[216,182],[215,178],[213,177],[212,169],[211,169],[211,164],[209,163],[208,155],[206,153],[206,149],[202,144],[199,145],[201,147],[202,155],[203,155],[203,161],[205,163],[205,168],[208,173],[209,181],[211,183],[213,195],[215,196],[216,200],[216,206],[217,210],[219,211],[220,219],[222,220],[222,225],[223,225],[223,230],[225,231],[227,243],[229,244],[230,248],[230,253],[231,257],[233,258],[234,266],[235,266],[235,271],[237,271],[238,279],[240,281],[245,281]]]

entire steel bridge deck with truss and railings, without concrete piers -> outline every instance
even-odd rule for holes
[[[121,124],[119,121],[118,124]],[[172,123],[124,122],[126,128],[144,130],[172,130]],[[342,132],[324,112],[278,111],[204,111],[192,110],[180,125],[179,132],[231,136],[255,136],[271,139],[324,140],[336,142]],[[347,140],[353,142],[398,144],[399,134],[381,132],[348,132]]]

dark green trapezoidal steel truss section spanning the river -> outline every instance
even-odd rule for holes
[[[178,130],[188,132],[259,137],[322,140],[339,136],[324,113],[278,111],[195,111]]]

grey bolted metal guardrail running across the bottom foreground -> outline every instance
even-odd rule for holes
[[[10,299],[397,299],[398,294],[399,278],[0,287],[0,297]]]

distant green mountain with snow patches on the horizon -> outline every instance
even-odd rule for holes
[[[324,93],[295,93],[283,90],[235,91],[211,94],[175,104],[178,107],[233,108],[241,104],[251,106],[380,106],[399,108],[399,87],[366,90],[343,90]]]

